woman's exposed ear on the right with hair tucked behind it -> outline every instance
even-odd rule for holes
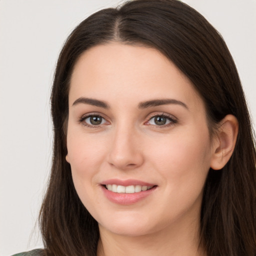
[[[226,115],[219,124],[210,162],[210,167],[215,170],[223,168],[231,157],[238,133],[238,121],[232,114]]]

